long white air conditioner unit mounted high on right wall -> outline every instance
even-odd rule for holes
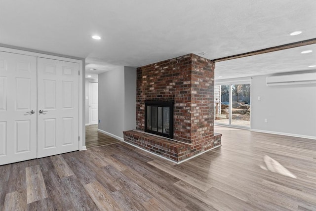
[[[316,73],[302,73],[284,76],[268,76],[266,78],[268,86],[271,85],[291,85],[291,84],[316,84]]]

